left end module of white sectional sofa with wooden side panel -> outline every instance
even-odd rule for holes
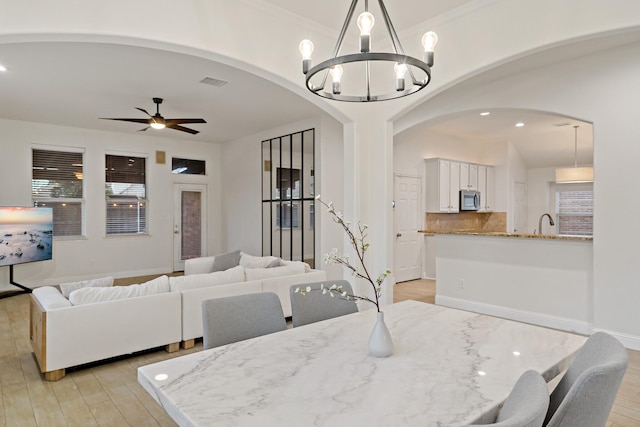
[[[44,286],[31,297],[31,346],[45,379],[65,369],[155,347],[177,351],[181,339],[181,295],[166,291],[73,305],[60,290]],[[129,287],[114,287],[129,288]],[[98,291],[106,288],[95,288]]]

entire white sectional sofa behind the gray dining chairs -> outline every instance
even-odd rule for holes
[[[324,271],[302,262],[269,268],[261,265],[274,257],[243,255],[243,265],[216,272],[211,272],[214,257],[189,260],[185,276],[161,276],[142,285],[111,287],[111,278],[106,284],[98,279],[34,289],[30,339],[45,379],[58,380],[66,368],[141,350],[166,346],[177,351],[180,341],[193,347],[202,337],[206,299],[274,292],[285,316],[291,316],[289,287],[326,280]]]

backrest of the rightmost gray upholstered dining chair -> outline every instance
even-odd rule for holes
[[[604,426],[628,357],[613,336],[604,332],[591,335],[551,393],[545,426]]]

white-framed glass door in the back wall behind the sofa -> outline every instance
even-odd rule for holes
[[[207,254],[207,186],[175,184],[173,189],[173,270]]]

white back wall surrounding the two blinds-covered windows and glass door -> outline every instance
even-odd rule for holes
[[[86,237],[56,238],[52,261],[16,266],[15,281],[27,286],[113,275],[115,277],[173,271],[173,184],[206,184],[209,200],[208,241],[214,248],[220,236],[220,147],[217,144],[102,132],[0,119],[0,206],[32,206],[31,148],[82,148]],[[170,130],[169,130],[170,131]],[[166,132],[166,131],[165,131]],[[155,152],[166,152],[164,165]],[[148,230],[146,236],[105,236],[104,156],[131,153],[147,158]],[[171,173],[171,157],[205,160],[208,176]],[[8,268],[0,283],[8,283]]]

